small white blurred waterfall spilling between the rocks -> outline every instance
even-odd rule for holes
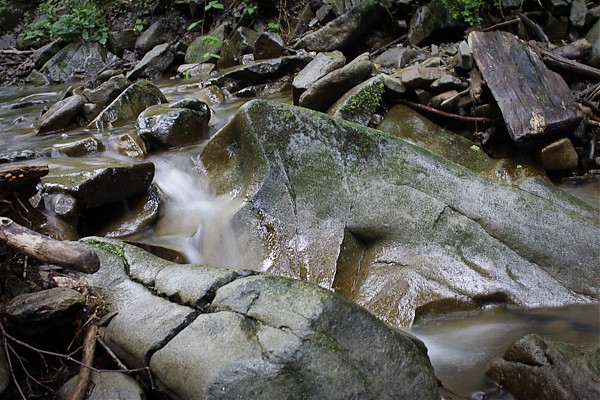
[[[191,263],[241,266],[231,200],[209,192],[206,177],[190,157],[155,164],[154,181],[166,200],[155,229],[157,241],[177,247]]]

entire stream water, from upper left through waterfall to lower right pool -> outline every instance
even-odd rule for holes
[[[199,90],[195,82],[163,81],[157,86],[172,102]],[[108,139],[106,134],[85,129],[67,134],[34,135],[32,124],[41,110],[59,100],[66,88],[0,88],[0,152],[51,149],[54,144],[90,135]],[[289,97],[289,94],[279,94],[274,99],[288,102]],[[222,127],[245,101],[230,99],[213,106],[210,134]],[[119,129],[131,129],[131,126]],[[235,235],[227,223],[240,205],[209,193],[202,166],[195,161],[203,146],[201,143],[147,157],[156,166],[155,183],[167,201],[153,230],[128,239],[177,249],[193,263],[243,266],[243,255],[237,251]],[[108,151],[100,157],[124,159]],[[600,182],[565,185],[564,190],[600,207]],[[459,395],[481,398],[483,391],[494,386],[484,376],[486,364],[502,355],[514,340],[536,333],[552,340],[595,343],[599,338],[600,313],[597,305],[555,309],[492,308],[430,320],[407,330],[425,342],[436,374],[444,385]],[[504,394],[494,398],[512,397]]]

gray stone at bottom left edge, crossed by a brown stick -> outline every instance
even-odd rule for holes
[[[77,385],[79,375],[65,383],[58,391],[59,400],[69,400]],[[90,392],[86,400],[146,400],[146,394],[137,381],[120,371],[92,371]]]

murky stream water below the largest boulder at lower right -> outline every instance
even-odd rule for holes
[[[488,362],[502,356],[512,342],[525,335],[536,333],[576,344],[598,343],[600,308],[498,308],[429,321],[408,331],[425,342],[442,383],[457,394],[469,396],[494,387],[484,375]]]

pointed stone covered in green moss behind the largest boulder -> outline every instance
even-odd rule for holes
[[[360,125],[368,125],[381,103],[383,75],[374,76],[350,89],[327,111],[329,115]]]

